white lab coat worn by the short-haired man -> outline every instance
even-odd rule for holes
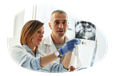
[[[70,40],[67,38],[67,36],[65,37],[65,39],[66,39],[66,42]],[[39,50],[41,53],[45,53],[45,54],[50,54],[50,53],[57,51],[57,49],[52,41],[51,34],[43,38],[43,40],[39,46]],[[60,58],[55,60],[55,63],[59,64],[59,62],[60,62]],[[74,66],[76,68],[76,70],[82,68],[82,64],[79,59],[78,47],[76,47],[73,51],[72,59],[71,59],[71,66]]]

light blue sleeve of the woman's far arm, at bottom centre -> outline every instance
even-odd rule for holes
[[[65,69],[62,64],[53,63],[51,73],[68,73],[69,69]]]

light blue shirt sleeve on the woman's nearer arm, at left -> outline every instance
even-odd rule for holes
[[[25,70],[37,70],[42,68],[40,65],[40,57],[32,57],[22,46],[13,47],[11,50],[11,56],[19,66],[25,68]]]

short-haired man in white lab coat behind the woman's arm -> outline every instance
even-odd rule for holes
[[[41,45],[39,46],[39,50],[42,53],[49,54],[55,52],[59,48],[61,48],[65,42],[70,39],[65,36],[65,33],[68,29],[68,18],[67,14],[62,10],[54,11],[50,16],[49,27],[52,30],[51,34],[44,37]],[[55,60],[56,63],[61,64],[64,59],[64,56],[60,59]],[[77,64],[75,64],[75,59]],[[78,56],[78,50],[75,48],[72,54],[71,67],[70,72],[74,72],[75,69],[79,69],[82,67]]]

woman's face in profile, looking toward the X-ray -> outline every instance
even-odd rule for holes
[[[38,46],[40,45],[42,38],[43,38],[43,34],[44,34],[44,26],[40,27],[37,32],[34,34],[34,36],[32,37],[32,44],[34,46]]]

